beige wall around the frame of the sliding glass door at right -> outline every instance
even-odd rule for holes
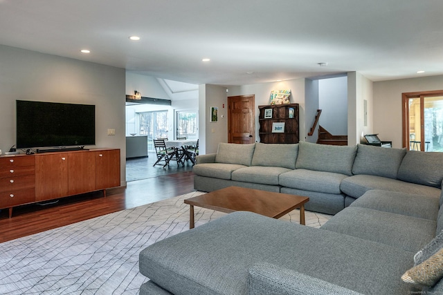
[[[401,93],[442,89],[443,75],[374,82],[374,133],[401,148]]]

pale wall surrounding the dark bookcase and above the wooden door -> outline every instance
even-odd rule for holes
[[[280,89],[291,89],[291,103],[300,105],[300,118],[298,122],[298,124],[300,124],[300,140],[305,140],[308,132],[307,127],[305,127],[305,79],[229,87],[228,96],[255,95],[255,140],[257,141],[260,140],[260,136],[258,135],[260,129],[258,106],[269,104],[271,91]]]

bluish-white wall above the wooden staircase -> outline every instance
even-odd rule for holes
[[[332,135],[347,135],[347,77],[318,80],[319,124]]]

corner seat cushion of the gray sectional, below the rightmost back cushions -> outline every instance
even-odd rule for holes
[[[341,191],[353,198],[363,196],[363,193],[370,189],[383,189],[386,191],[401,191],[404,193],[415,193],[422,196],[438,196],[441,190],[435,187],[427,187],[422,184],[415,184],[395,180],[391,178],[383,178],[374,175],[353,175],[343,179],[340,185]]]

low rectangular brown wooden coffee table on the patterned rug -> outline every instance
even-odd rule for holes
[[[293,209],[300,209],[300,225],[305,225],[305,203],[308,197],[273,193],[243,187],[226,187],[194,198],[186,199],[190,205],[189,228],[193,229],[194,206],[231,213],[234,211],[251,211],[272,218],[280,218]]]

